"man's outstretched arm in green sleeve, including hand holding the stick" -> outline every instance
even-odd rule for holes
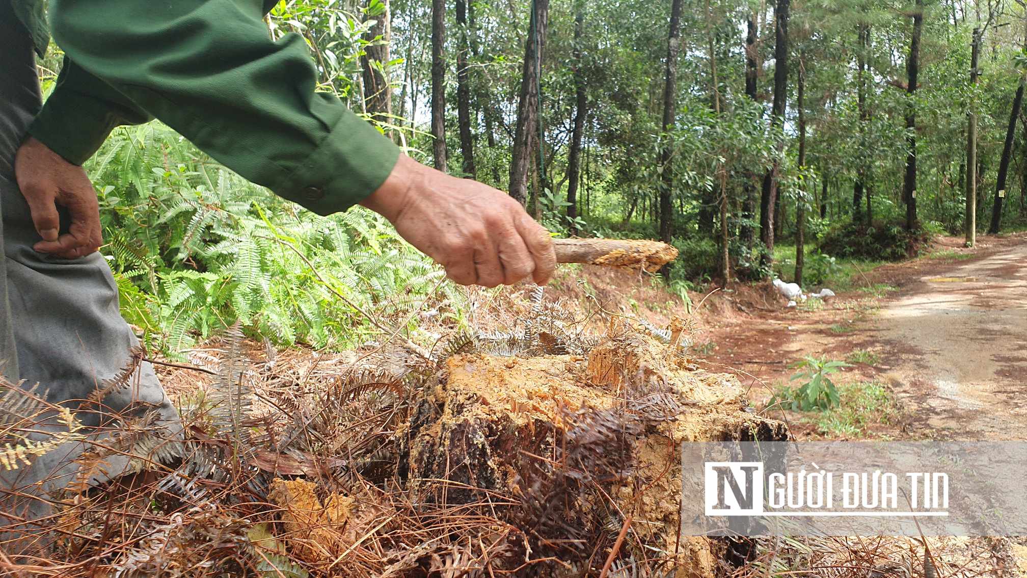
[[[400,158],[337,98],[314,93],[304,40],[272,42],[262,4],[52,0],[50,21],[91,77],[248,180],[320,214],[363,203],[459,283],[548,281],[544,228],[501,191]]]

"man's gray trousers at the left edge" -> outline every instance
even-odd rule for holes
[[[99,384],[113,377],[128,361],[136,336],[118,313],[118,291],[104,257],[93,253],[80,259],[58,259],[35,252],[39,241],[25,198],[14,180],[14,153],[32,117],[40,107],[32,42],[13,16],[9,0],[0,0],[0,363],[12,383],[28,388],[40,384],[48,400],[79,408]],[[66,231],[63,223],[62,232]],[[149,363],[143,363],[134,386],[104,399],[103,407],[120,411],[142,401],[161,418],[177,422],[178,414],[164,395]],[[3,392],[0,392],[2,394]],[[80,416],[97,427],[103,413]],[[5,416],[0,407],[0,447],[5,439]],[[60,428],[56,428],[60,429]],[[177,429],[177,428],[176,428]],[[0,532],[22,520],[40,519],[52,511],[49,494],[74,478],[82,443],[67,443],[33,461],[29,467],[5,471],[0,466]],[[111,475],[126,460],[110,460]],[[45,531],[46,523],[29,523]],[[0,549],[5,549],[0,542]]]

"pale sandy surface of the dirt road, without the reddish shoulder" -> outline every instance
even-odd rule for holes
[[[1027,439],[1027,243],[920,277],[874,325],[914,425]]]

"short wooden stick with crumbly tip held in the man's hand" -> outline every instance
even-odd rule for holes
[[[673,261],[678,250],[658,241],[623,239],[554,239],[558,263],[644,267],[655,273]]]

